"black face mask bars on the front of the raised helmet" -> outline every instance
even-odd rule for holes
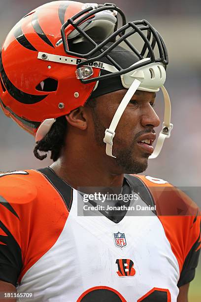
[[[82,12],[74,15],[72,18],[68,19],[67,22],[64,23],[62,26],[61,33],[66,53],[68,55],[77,56],[85,59],[77,65],[77,68],[80,68],[81,66],[86,64],[90,64],[93,61],[101,61],[102,58],[107,58],[110,63],[117,69],[116,73],[110,75],[93,77],[90,79],[82,79],[83,83],[90,83],[93,81],[101,80],[103,78],[110,78],[113,76],[121,76],[136,68],[143,67],[145,65],[156,62],[160,62],[164,65],[164,67],[166,67],[166,65],[168,64],[168,56],[164,40],[161,35],[146,20],[134,21],[129,22],[128,24],[124,24],[125,20],[123,19],[123,26],[120,29],[116,30],[109,37],[105,38],[103,41],[99,41],[98,38],[93,38],[92,35],[90,36],[90,33],[87,32],[89,24],[91,28],[93,28],[92,23],[96,22],[96,16],[100,13],[103,15],[104,12],[108,11],[116,11],[117,13],[120,13],[121,16],[123,15],[123,12],[118,7],[116,7],[115,4],[97,4],[95,8],[92,6],[87,7]],[[114,17],[113,15],[111,16]],[[68,42],[69,39],[67,37],[72,35],[68,32],[69,28],[71,30],[71,33],[76,31],[76,37],[79,37],[76,41],[87,41],[88,44],[91,45],[91,50],[84,53],[83,51],[75,51],[74,49],[77,48],[74,47],[73,49],[73,42]],[[134,43],[129,40],[129,38],[132,38],[134,40],[134,36],[138,36],[138,38],[140,38],[143,42],[141,50],[138,50],[135,47]],[[105,46],[109,42],[112,42],[112,44],[107,47],[107,49],[105,49]],[[111,52],[115,47],[120,45],[122,42],[124,42],[127,48],[129,48],[130,51],[132,51],[138,57],[139,61],[143,60],[144,58],[149,58],[149,60],[143,62],[141,61],[138,63],[138,65],[135,65],[134,67],[128,67],[127,69],[121,68],[121,66],[117,62],[115,62],[115,60],[113,60],[108,53]]]

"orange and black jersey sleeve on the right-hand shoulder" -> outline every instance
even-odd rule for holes
[[[183,191],[166,181],[140,176],[148,187],[173,254],[179,264],[177,286],[195,276],[201,250],[201,211]]]

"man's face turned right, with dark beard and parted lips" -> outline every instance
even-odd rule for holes
[[[121,103],[126,89],[105,94],[97,98],[97,107],[93,111],[95,140],[103,147],[104,132]],[[160,119],[153,110],[155,93],[137,90],[124,111],[113,139],[112,158],[122,173],[140,173],[146,170],[148,157],[153,152],[150,145],[141,143],[144,139],[155,139],[154,127],[159,126]]]

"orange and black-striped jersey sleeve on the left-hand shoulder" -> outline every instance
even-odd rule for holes
[[[63,195],[41,172],[0,174],[0,280],[20,284],[56,243],[68,213]]]

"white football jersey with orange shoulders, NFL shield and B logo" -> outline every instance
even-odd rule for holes
[[[138,198],[115,223],[93,208],[85,216],[82,194],[50,168],[26,172],[0,178],[0,189],[6,184],[13,192],[0,192],[6,204],[0,204],[0,249],[11,255],[7,266],[0,256],[0,279],[18,280],[18,293],[33,293],[34,302],[176,302],[178,286],[192,279],[200,249],[200,218],[187,197],[167,183],[125,176]],[[14,192],[17,183],[25,191]],[[160,202],[160,186],[174,204],[182,197],[179,205],[188,202],[195,215],[163,215],[167,203]]]

